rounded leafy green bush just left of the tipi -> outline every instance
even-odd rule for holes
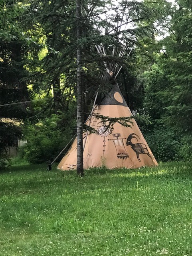
[[[52,161],[71,139],[71,129],[61,132],[57,126],[59,116],[53,114],[37,124],[27,126],[28,143],[20,148],[20,156],[30,163]]]

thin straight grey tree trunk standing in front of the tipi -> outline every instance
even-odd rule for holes
[[[76,16],[77,16],[77,174],[83,176],[83,90],[81,76],[81,0],[76,0]]]

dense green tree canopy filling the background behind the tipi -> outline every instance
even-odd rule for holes
[[[0,104],[32,102],[0,107],[0,152],[24,133],[30,141],[25,154],[47,150],[39,154],[45,161],[75,134],[77,45],[82,50],[84,120],[96,93],[102,98],[110,90],[101,79],[103,60],[117,62],[123,65],[119,86],[149,144],[158,132],[161,137],[170,132],[172,142],[190,148],[184,136],[192,126],[191,2],[82,0],[81,5],[82,36],[77,41],[75,1],[1,1]],[[109,56],[99,56],[95,44],[103,44]],[[125,44],[123,57],[110,54],[113,45],[120,49]],[[23,132],[3,118],[22,120]],[[34,139],[37,130],[42,136],[45,131],[47,146],[40,137]],[[174,150],[168,160],[182,159],[176,144],[170,143]],[[156,154],[163,160],[158,150]]]

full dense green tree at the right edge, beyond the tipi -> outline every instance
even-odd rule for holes
[[[191,72],[192,5],[189,1],[178,0],[167,21],[169,35],[158,43],[159,53],[156,63],[148,73],[146,106],[152,118],[158,123],[174,127],[179,133],[190,132],[191,112]]]

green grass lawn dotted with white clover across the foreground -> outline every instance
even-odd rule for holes
[[[0,256],[192,255],[191,163],[0,173]]]

